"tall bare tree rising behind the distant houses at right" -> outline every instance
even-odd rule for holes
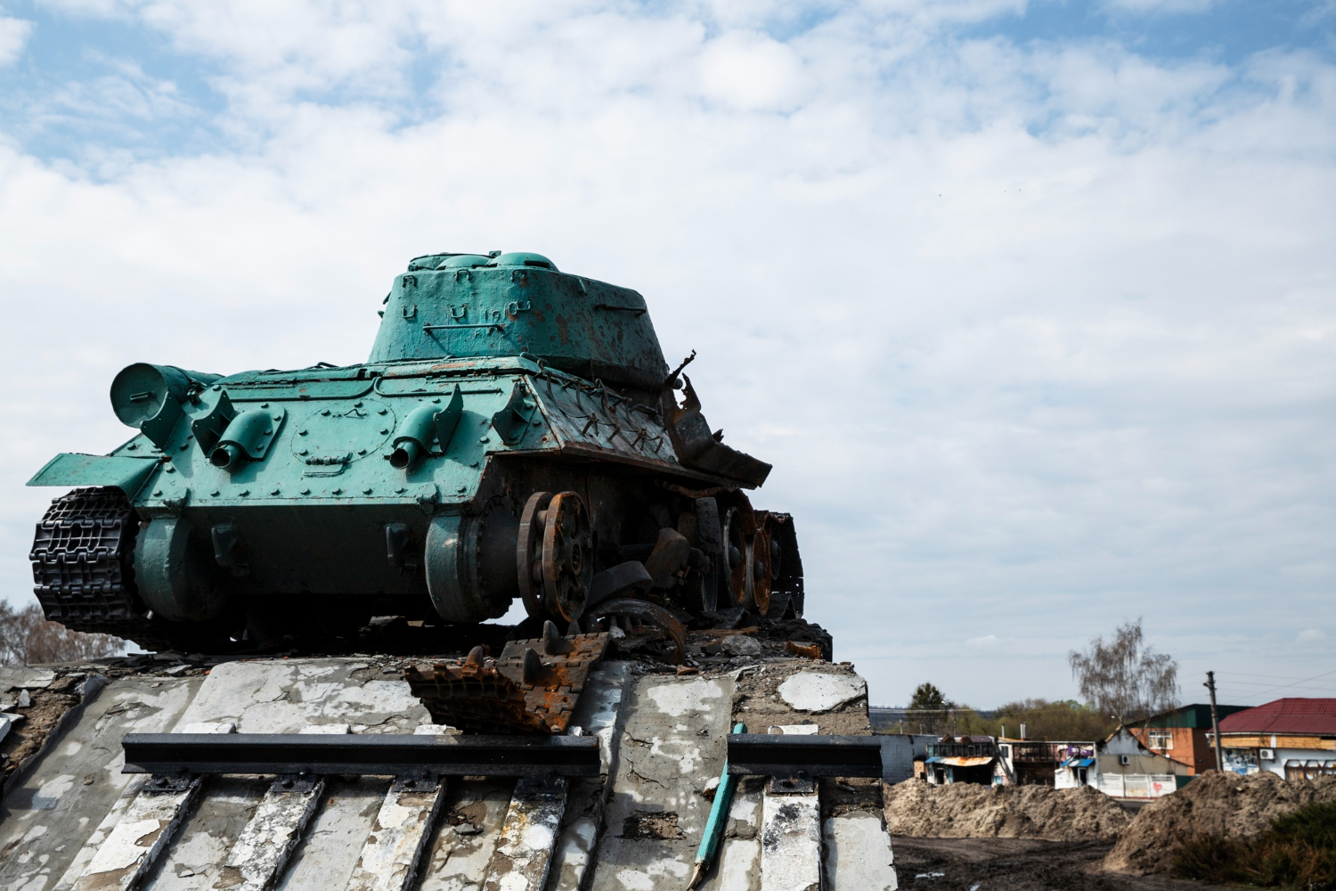
[[[1121,625],[1109,643],[1096,637],[1086,652],[1071,651],[1067,663],[1081,696],[1122,724],[1178,704],[1178,663],[1144,645],[1140,617]]]

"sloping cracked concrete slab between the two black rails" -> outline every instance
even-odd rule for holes
[[[595,891],[685,884],[709,816],[705,784],[723,768],[732,696],[727,676],[649,675],[635,683]]]

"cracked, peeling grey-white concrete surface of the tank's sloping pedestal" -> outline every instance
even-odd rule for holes
[[[76,668],[80,677],[90,675],[86,669],[91,667]],[[144,777],[120,773],[120,739],[126,733],[220,731],[228,725],[242,733],[413,733],[420,727],[434,728],[406,683],[387,677],[382,665],[366,660],[230,661],[215,665],[207,676],[204,665],[176,668],[155,664],[134,669],[143,675],[114,676],[108,687],[86,697],[79,705],[83,711],[32,760],[31,773],[20,776],[0,811],[0,891],[69,891],[118,827],[122,835],[132,835],[128,823],[120,824],[139,800]],[[71,675],[24,671],[28,673],[19,680],[35,684],[29,691],[33,696],[59,695],[48,687]],[[357,872],[358,860],[367,851],[374,855],[377,846],[385,847],[381,860],[393,860],[394,875],[386,878],[386,887],[402,884],[413,856],[399,848],[407,851],[417,840],[405,842],[407,847],[398,844],[389,838],[386,824],[377,823],[385,814],[399,814],[386,811],[390,801],[403,811],[403,820],[421,824],[417,838],[424,855],[417,887],[422,891],[482,891],[489,867],[497,891],[510,891],[520,882],[537,888],[544,872],[544,891],[681,887],[691,874],[723,767],[725,736],[735,721],[745,721],[752,732],[771,727],[807,732],[812,725],[822,733],[871,732],[866,692],[850,667],[799,659],[684,676],[647,671],[653,668],[611,661],[591,676],[572,724],[599,739],[604,776],[570,780],[564,807],[558,810],[553,801],[537,820],[541,826],[530,824],[526,816],[512,820],[508,834],[502,831],[508,811],[516,808],[513,779],[452,777],[437,799],[438,816],[433,819],[430,811],[437,804],[426,799],[413,804],[410,795],[391,801],[389,777],[327,776],[323,792],[310,801],[305,832],[283,836],[282,846],[287,840],[295,846],[286,866],[275,860],[270,871],[279,875],[269,884],[275,891],[339,891],[351,882],[379,890],[385,870],[374,870],[375,880],[365,868]],[[236,860],[238,842],[270,783],[271,777],[207,779],[198,807],[179,810],[179,832],[139,887],[212,891],[238,876],[247,878],[242,863],[231,868],[228,863]],[[763,785],[760,777],[739,783],[707,890],[762,891]],[[820,854],[803,855],[803,864],[820,870],[827,891],[894,888],[879,783],[822,780],[819,788],[819,814],[803,823],[803,832],[807,850],[815,844]],[[279,822],[283,826],[270,827],[278,835],[295,827],[286,818]],[[808,838],[811,826],[818,827],[815,843]],[[530,832],[537,828],[546,831],[542,839]],[[135,847],[151,842],[154,831],[136,835]],[[549,839],[553,834],[554,840]],[[542,844],[536,844],[540,840]],[[270,847],[267,842],[251,844],[255,863]],[[545,856],[550,856],[550,866]],[[508,864],[514,868],[508,871]],[[788,872],[798,876],[799,870]],[[265,883],[259,874],[251,878],[257,886]]]

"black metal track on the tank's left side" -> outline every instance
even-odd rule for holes
[[[32,542],[33,593],[51,621],[170,649],[135,590],[139,520],[112,486],[75,489],[51,502]]]

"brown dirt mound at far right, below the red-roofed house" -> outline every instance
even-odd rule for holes
[[[1208,771],[1173,795],[1152,801],[1104,859],[1104,868],[1146,875],[1168,872],[1184,839],[1261,835],[1281,814],[1312,801],[1336,800],[1336,776],[1285,780]]]

